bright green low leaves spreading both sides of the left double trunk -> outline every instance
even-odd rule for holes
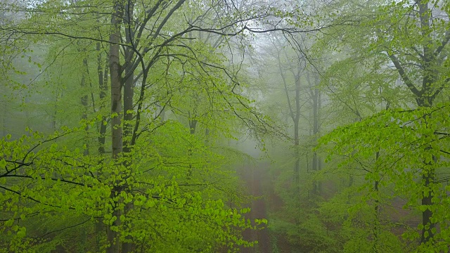
[[[120,240],[131,237],[146,243],[152,238],[152,245],[163,252],[186,252],[186,245],[214,252],[218,245],[237,249],[253,244],[238,236],[238,231],[257,228],[243,217],[250,209],[229,209],[219,200],[223,195],[216,187],[233,188],[227,184],[234,179],[220,170],[226,160],[181,124],[160,126],[158,134],[148,136],[153,145],[137,143],[139,148],[132,151],[134,163],[129,167],[124,166],[129,157],[108,160],[84,155],[76,145],[52,141],[66,138],[70,143],[79,131],[84,129],[2,141],[6,168],[14,174],[1,178],[1,186],[10,189],[0,195],[0,200],[8,203],[1,208],[15,216],[8,216],[11,219],[1,228],[10,229],[19,218],[27,224],[5,238],[2,245],[28,240],[29,233],[45,234],[77,223],[82,224],[79,228],[91,229],[98,218],[117,232]],[[188,152],[188,148],[193,151]],[[191,178],[186,173],[190,164]],[[8,171],[1,167],[0,174],[4,173]],[[39,222],[41,226],[37,226]],[[266,223],[264,219],[256,222]],[[160,233],[166,241],[155,245]],[[53,242],[63,241],[49,243]]]

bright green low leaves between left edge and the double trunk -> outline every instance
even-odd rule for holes
[[[70,213],[67,217],[74,219],[80,214],[98,214],[94,209],[98,202],[93,202],[91,197],[94,200],[104,197],[98,194],[98,187],[91,187],[95,181],[91,174],[96,173],[94,168],[98,166],[99,160],[96,157],[84,157],[82,153],[66,148],[62,142],[62,145],[53,143],[76,130],[52,136],[30,132],[30,136],[8,141],[4,138],[1,141],[3,166],[0,167],[0,201],[4,203],[1,212],[11,219],[0,228],[8,230],[14,220],[23,225],[14,228],[15,233],[4,237],[1,245],[8,242],[11,242],[11,247],[15,247],[13,244],[16,242],[24,244],[23,240],[29,240],[28,231],[33,235],[39,232],[36,230],[38,227],[44,230],[39,233],[51,231],[54,228],[49,228],[46,221],[55,221],[58,214],[65,217],[67,212]],[[93,166],[86,169],[88,162]],[[63,228],[64,225],[60,224],[59,227]],[[58,225],[53,223],[53,226]],[[25,252],[17,250],[13,251]]]

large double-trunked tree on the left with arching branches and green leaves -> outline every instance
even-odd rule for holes
[[[104,223],[106,237],[97,242],[107,252],[195,252],[215,251],[221,246],[230,250],[237,245],[251,246],[252,242],[242,240],[234,229],[255,228],[241,216],[248,210],[229,209],[223,201],[208,197],[218,195],[214,191],[217,182],[212,179],[219,177],[218,167],[224,158],[212,153],[202,138],[190,134],[183,125],[158,120],[160,114],[154,113],[165,108],[172,115],[180,115],[184,108],[176,106],[179,101],[174,98],[182,98],[188,90],[202,94],[207,99],[202,102],[214,105],[214,109],[224,112],[221,115],[235,115],[257,134],[276,131],[238,92],[238,75],[224,64],[226,58],[215,47],[200,40],[186,42],[197,41],[191,37],[192,32],[223,38],[245,31],[263,32],[250,27],[250,20],[288,17],[270,6],[251,5],[243,2],[237,11],[229,1],[46,1],[32,2],[27,7],[6,5],[15,13],[25,14],[23,20],[2,25],[7,43],[34,41],[60,48],[53,43],[57,39],[74,53],[77,71],[70,73],[75,75],[71,81],[82,89],[64,95],[75,97],[78,105],[81,102],[82,110],[73,114],[78,115],[75,122],[82,118],[82,123],[71,120],[70,124],[77,126],[63,128],[62,132],[46,135],[30,131],[29,136],[2,140],[2,201],[13,203],[3,210],[8,218],[2,228],[11,235],[3,244],[12,251],[27,247],[46,247],[49,251],[57,247],[58,242],[49,238],[53,231],[44,233],[49,240],[44,243],[26,236],[25,229],[39,233],[31,223],[19,226],[28,216],[39,214],[39,221],[45,217],[42,213],[49,212],[53,219],[85,219],[61,230],[89,228],[94,221]],[[298,31],[276,25],[268,30]],[[62,56],[54,57],[58,60]],[[108,69],[103,68],[105,62]],[[53,67],[50,65],[46,67]],[[70,74],[64,73],[64,77]],[[103,108],[108,76],[111,108],[106,113]],[[94,79],[98,84],[94,85]],[[197,80],[200,82],[194,82]],[[91,102],[86,99],[89,90]],[[99,98],[96,105],[95,97]],[[89,106],[94,114],[87,110]],[[211,115],[206,113],[204,117]],[[190,119],[198,120],[199,116]],[[57,127],[56,117],[53,122]],[[226,134],[229,128],[219,130]],[[111,138],[105,140],[108,131]],[[94,138],[89,140],[86,133]],[[77,140],[78,134],[84,136],[82,143]],[[96,143],[94,140],[97,145],[91,145]],[[108,142],[110,149],[105,148]],[[94,146],[98,146],[98,153],[92,152]],[[108,152],[110,158],[105,156]],[[198,169],[198,177],[187,177],[182,172],[186,166]],[[17,213],[16,207],[20,207]]]

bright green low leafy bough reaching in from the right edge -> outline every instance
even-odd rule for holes
[[[389,200],[392,196],[380,198],[378,194],[382,193],[380,189],[392,188],[395,195],[408,198],[405,207],[413,207],[418,212],[430,211],[432,223],[442,224],[448,219],[444,211],[448,208],[445,186],[439,178],[428,180],[435,179],[435,174],[439,175],[450,165],[446,152],[450,143],[444,137],[449,129],[445,119],[450,113],[449,105],[439,103],[430,108],[383,111],[361,122],[338,127],[319,143],[333,150],[335,155],[330,155],[330,160],[340,159],[340,171],[350,174],[364,171],[363,188],[371,194],[363,199],[368,203]],[[374,183],[377,191],[372,190]],[[418,205],[417,200],[424,197],[431,198],[430,204]],[[441,231],[432,231],[431,226],[420,225],[418,229],[424,229],[425,238],[433,232],[434,240],[450,240],[443,230],[442,235]],[[405,236],[417,238],[418,235]]]

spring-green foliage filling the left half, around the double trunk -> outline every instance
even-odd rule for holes
[[[231,44],[224,38],[243,32],[242,15],[258,18],[259,8],[235,14],[226,4],[2,5],[20,14],[1,26],[4,56],[8,44],[23,55],[30,45],[39,50],[28,58],[39,68],[33,86],[17,87],[30,92],[25,112],[39,117],[26,124],[47,133],[30,130],[0,145],[4,250],[233,252],[255,244],[242,238],[256,226],[243,217],[249,210],[240,208],[236,176],[224,169],[233,157],[220,155],[219,144],[241,126],[258,136],[276,128],[219,51]],[[219,43],[195,39],[197,32]]]

